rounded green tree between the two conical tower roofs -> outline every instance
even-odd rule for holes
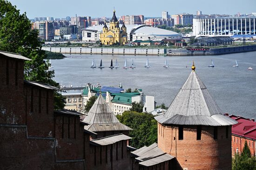
[[[130,128],[129,136],[132,137],[129,145],[141,148],[157,142],[157,121],[150,113],[137,113],[125,111],[122,115],[117,115],[118,120]]]

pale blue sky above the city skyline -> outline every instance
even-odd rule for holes
[[[8,0],[34,17],[66,18],[67,16],[91,16],[92,18],[144,15],[161,17],[162,11],[169,14],[202,11],[202,14],[236,14],[256,12],[256,0]]]

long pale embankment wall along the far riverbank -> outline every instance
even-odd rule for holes
[[[42,50],[63,54],[123,54],[123,55],[167,55],[167,56],[207,56],[238,52],[256,51],[256,45],[225,48],[88,48],[88,47],[42,47]]]

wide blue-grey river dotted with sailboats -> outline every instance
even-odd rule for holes
[[[60,84],[81,87],[88,82],[94,85],[99,82],[101,86],[118,87],[121,82],[124,89],[142,88],[144,94],[155,96],[157,105],[165,103],[166,106],[171,104],[188,78],[194,60],[197,75],[223,113],[256,119],[256,51],[188,57],[94,54],[66,56],[65,59],[52,60],[54,79]],[[150,68],[144,68],[147,58]],[[93,59],[97,66],[95,69],[90,68]],[[104,69],[98,69],[101,59]],[[117,59],[120,68],[109,69],[111,59],[113,63]],[[136,68],[123,69],[125,59],[128,65],[133,59]],[[166,59],[170,64],[169,68],[162,67]],[[211,59],[214,61],[214,68],[208,67]],[[239,67],[232,67],[235,60]],[[248,67],[254,70],[248,70]]]

